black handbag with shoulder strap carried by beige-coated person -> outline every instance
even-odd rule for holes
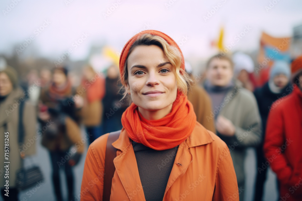
[[[19,144],[22,144],[24,142],[24,126],[22,123],[24,101],[21,101],[19,107],[18,142]],[[42,182],[44,180],[42,171],[40,170],[39,166],[34,165],[31,168],[25,168],[24,159],[21,159],[21,167],[22,168],[17,171],[16,175],[16,187],[19,190],[31,188],[38,182]]]

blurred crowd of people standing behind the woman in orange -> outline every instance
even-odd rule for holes
[[[202,77],[194,74],[188,62],[185,67],[194,80],[188,99],[197,121],[216,133],[230,149],[240,200],[244,200],[244,161],[249,147],[255,148],[257,156],[254,200],[263,199],[269,166],[277,176],[278,200],[301,200],[302,57],[291,62],[275,60],[265,67],[269,74],[261,78],[261,83],[252,58],[243,52],[214,55],[207,61]],[[111,65],[106,71],[97,72],[87,64],[82,68],[78,86],[77,80],[70,77],[70,69],[59,66],[31,70],[27,82],[21,82],[14,67],[2,67],[0,133],[11,133],[10,192],[14,192],[7,199],[2,188],[4,200],[18,200],[16,174],[22,160],[36,153],[33,144],[37,136],[49,152],[56,200],[65,200],[61,169],[66,177],[68,200],[74,200],[73,167],[85,157],[84,150],[101,135],[122,128],[121,115],[131,98],[122,99],[118,67]],[[23,142],[13,135],[20,132],[21,124]],[[82,127],[87,139],[84,143]],[[4,150],[2,144],[0,150]],[[68,157],[66,153],[70,153]],[[1,155],[0,162],[3,161]],[[1,177],[0,186],[4,184]]]

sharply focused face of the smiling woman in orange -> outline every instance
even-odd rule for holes
[[[140,111],[167,108],[171,111],[177,95],[175,69],[160,47],[134,48],[127,59],[127,70],[128,84],[125,88]]]

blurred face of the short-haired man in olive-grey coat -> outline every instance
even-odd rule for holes
[[[233,68],[226,59],[214,58],[207,68],[207,79],[214,86],[226,86],[233,78]]]

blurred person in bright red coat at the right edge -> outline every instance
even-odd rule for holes
[[[264,153],[277,174],[280,199],[302,200],[302,56],[291,64],[293,92],[275,101],[268,115]],[[262,167],[265,168],[265,167]]]

